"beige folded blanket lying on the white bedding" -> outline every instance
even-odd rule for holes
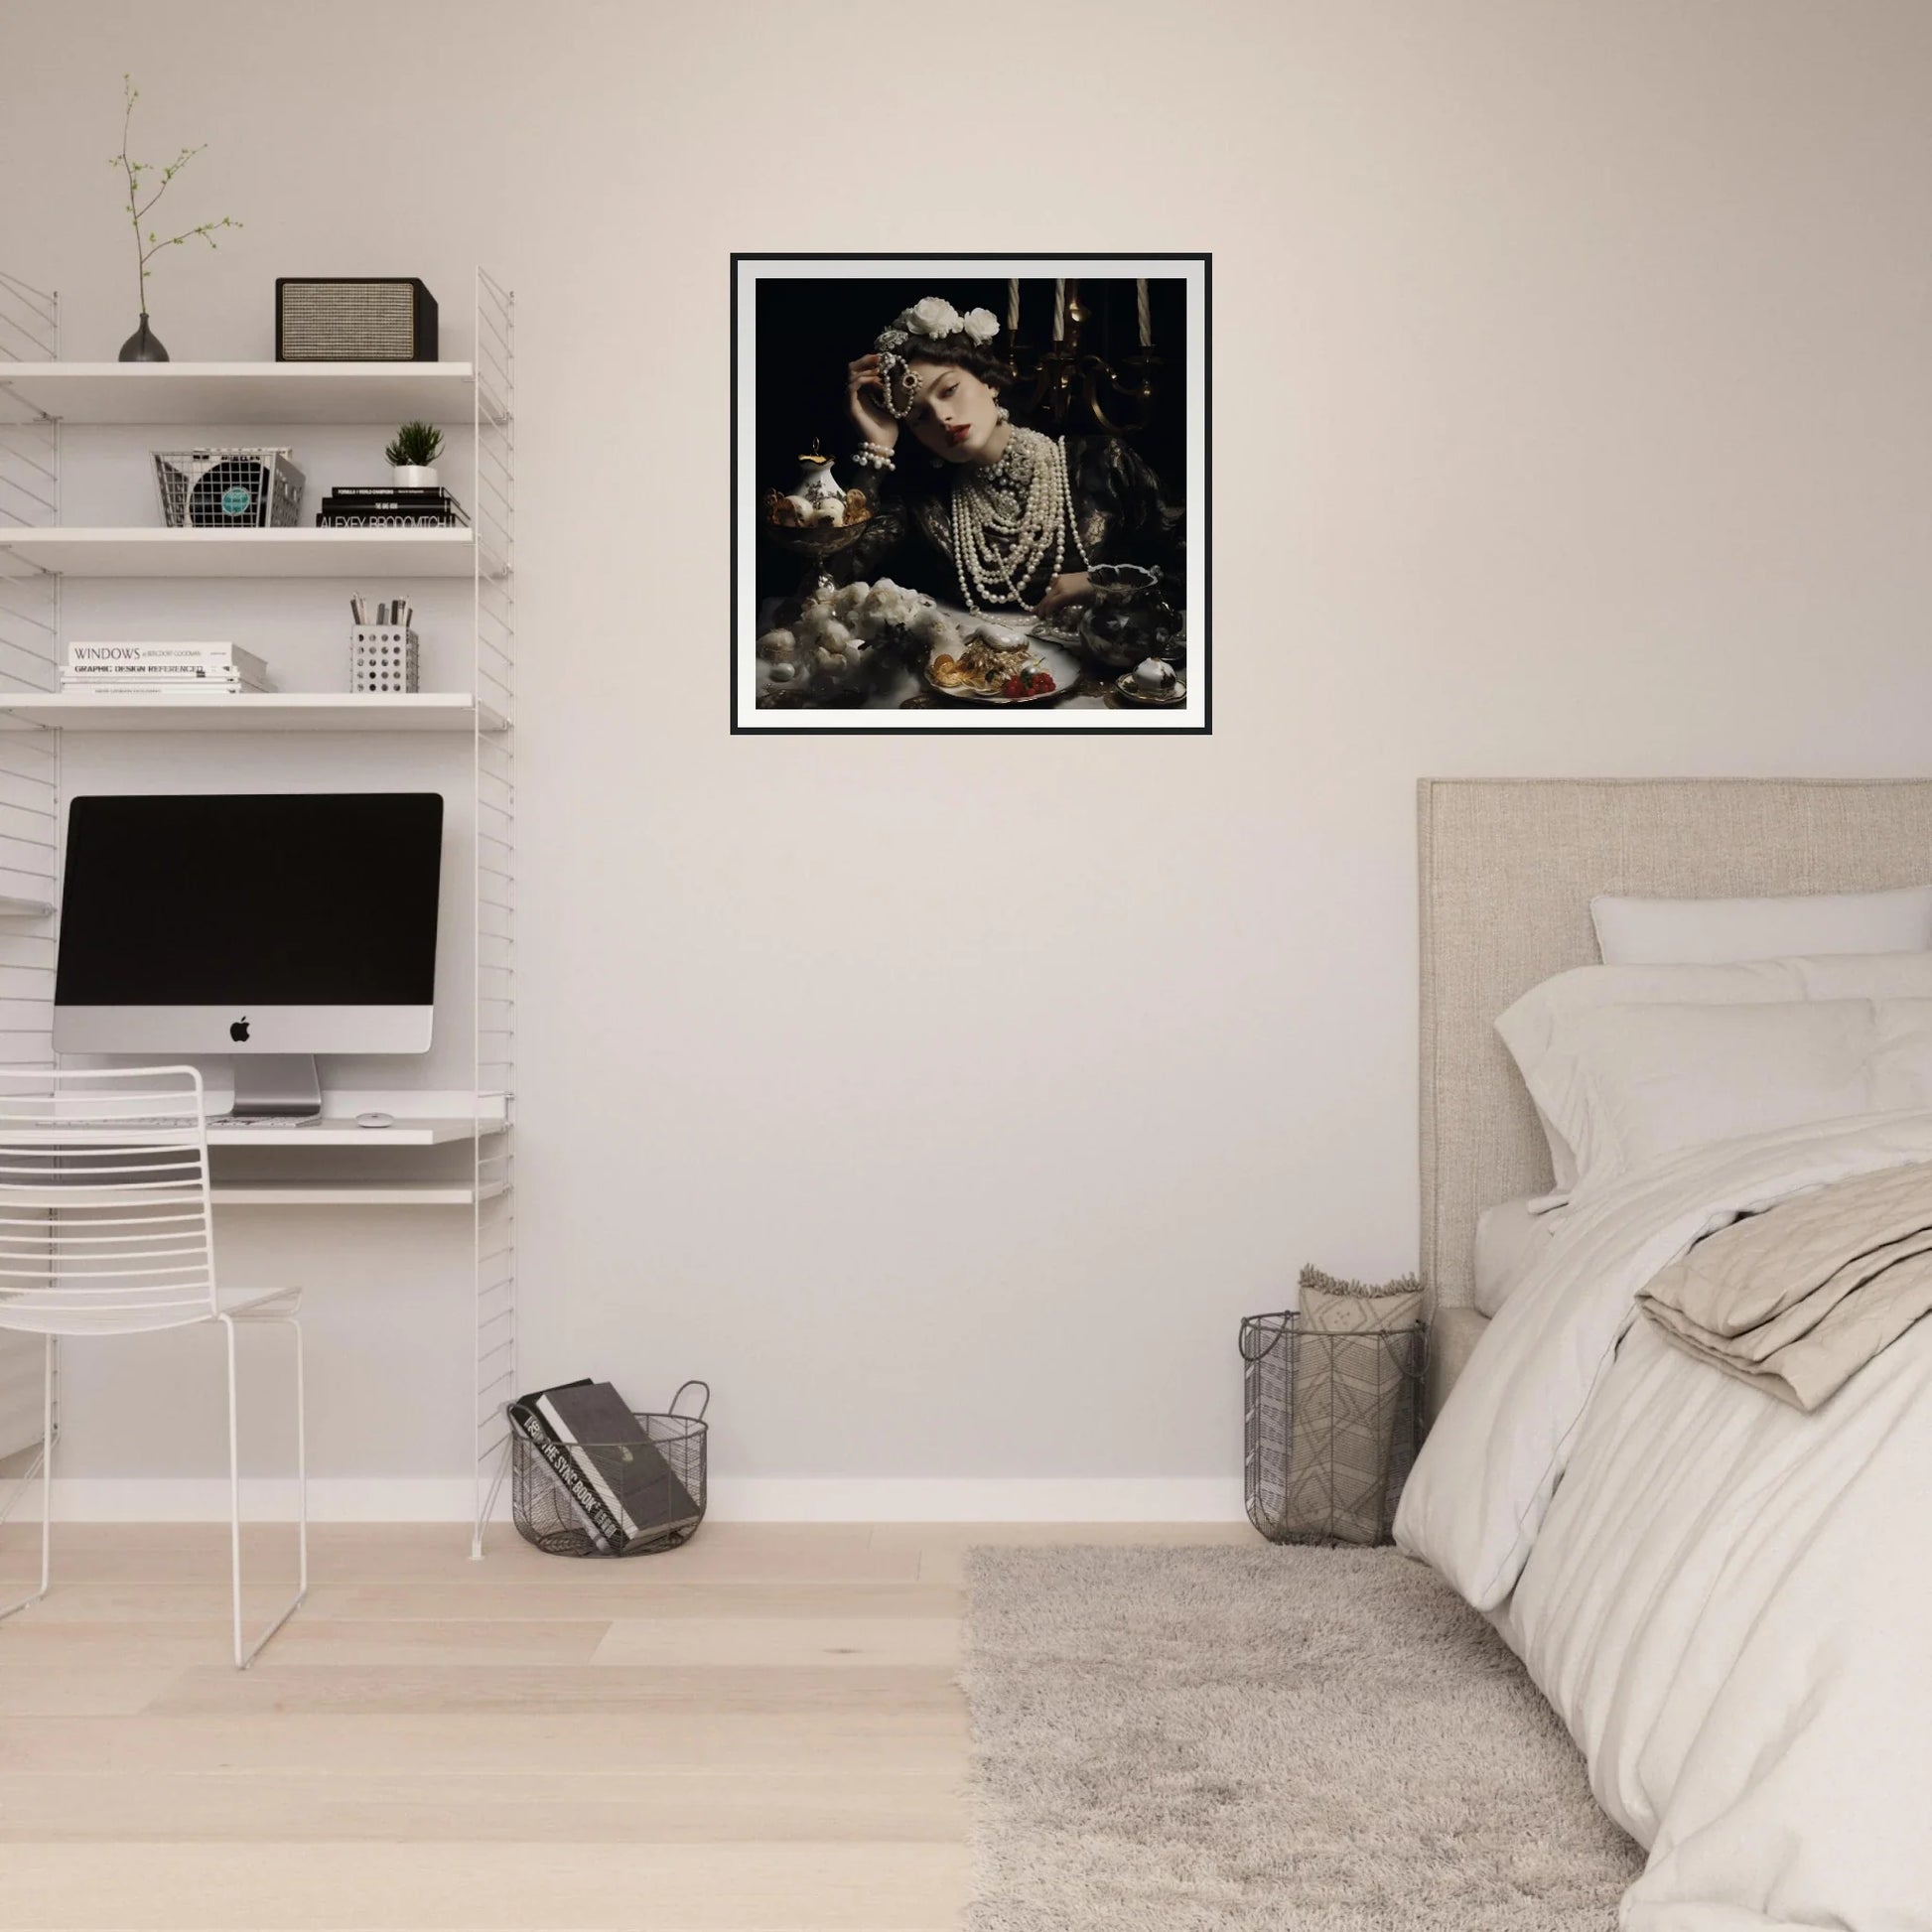
[[[1679,1349],[1816,1408],[1932,1314],[1932,1163],[1733,1221],[1671,1262],[1638,1306]]]

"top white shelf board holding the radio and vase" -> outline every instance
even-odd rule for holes
[[[469,421],[469,363],[0,363],[12,394],[64,423]]]

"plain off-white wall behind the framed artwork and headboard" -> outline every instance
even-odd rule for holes
[[[133,325],[124,68],[247,222],[162,263],[176,357],[269,354],[284,272],[421,272],[448,354],[518,290],[526,1368],[709,1376],[726,1499],[1225,1499],[1236,1318],[1414,1262],[1418,775],[1928,769],[1918,0],[10,0],[70,355]],[[726,734],[734,247],[1213,251],[1211,738]],[[456,1277],[352,1376],[379,1256],[292,1233],[365,1472]]]

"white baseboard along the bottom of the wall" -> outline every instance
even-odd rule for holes
[[[294,1486],[243,1482],[247,1517],[286,1517]],[[23,1495],[14,1520],[33,1517]],[[469,1522],[475,1490],[460,1476],[317,1476],[311,1522]],[[508,1517],[498,1495],[497,1515]],[[711,1484],[713,1522],[1238,1522],[1240,1480],[1223,1476],[726,1476]],[[56,1476],[62,1522],[226,1522],[220,1478]]]

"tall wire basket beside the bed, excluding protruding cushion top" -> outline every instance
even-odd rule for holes
[[[1248,1520],[1275,1544],[1385,1544],[1422,1447],[1420,1323],[1310,1333],[1240,1323]]]

